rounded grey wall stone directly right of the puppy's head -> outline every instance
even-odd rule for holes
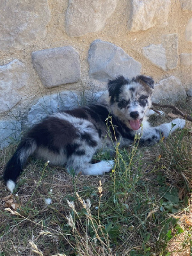
[[[155,84],[152,102],[174,103],[186,98],[186,91],[179,79],[170,76]]]

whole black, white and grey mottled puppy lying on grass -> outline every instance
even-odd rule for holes
[[[151,106],[153,88],[152,77],[137,76],[129,80],[120,76],[109,81],[108,95],[102,103],[55,113],[36,124],[6,164],[3,177],[7,188],[13,192],[17,177],[32,154],[54,165],[65,164],[75,173],[102,175],[113,168],[114,161],[91,163],[100,148],[113,148],[116,142],[120,147],[131,145],[136,132],[141,133],[141,144],[150,145],[157,143],[162,134],[166,138],[175,129],[183,128],[185,120],[179,118],[168,124],[150,126],[146,113]],[[109,116],[113,123],[113,127],[109,127],[113,141],[106,127]]]

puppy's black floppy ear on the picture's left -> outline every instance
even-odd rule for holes
[[[114,80],[109,80],[108,82],[109,96],[114,97],[114,95],[118,95],[120,92],[120,88],[124,84],[129,84],[129,80],[125,79],[124,76],[118,76]]]

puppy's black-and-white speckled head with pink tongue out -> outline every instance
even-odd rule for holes
[[[150,96],[154,80],[148,76],[137,76],[131,80],[119,76],[109,81],[109,107],[113,115],[125,122],[134,131],[140,129],[141,122],[151,106]]]

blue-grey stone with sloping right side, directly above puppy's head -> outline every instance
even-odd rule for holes
[[[141,71],[140,62],[131,58],[122,48],[102,40],[92,42],[88,64],[89,76],[100,81],[108,81],[116,76],[131,78]]]

